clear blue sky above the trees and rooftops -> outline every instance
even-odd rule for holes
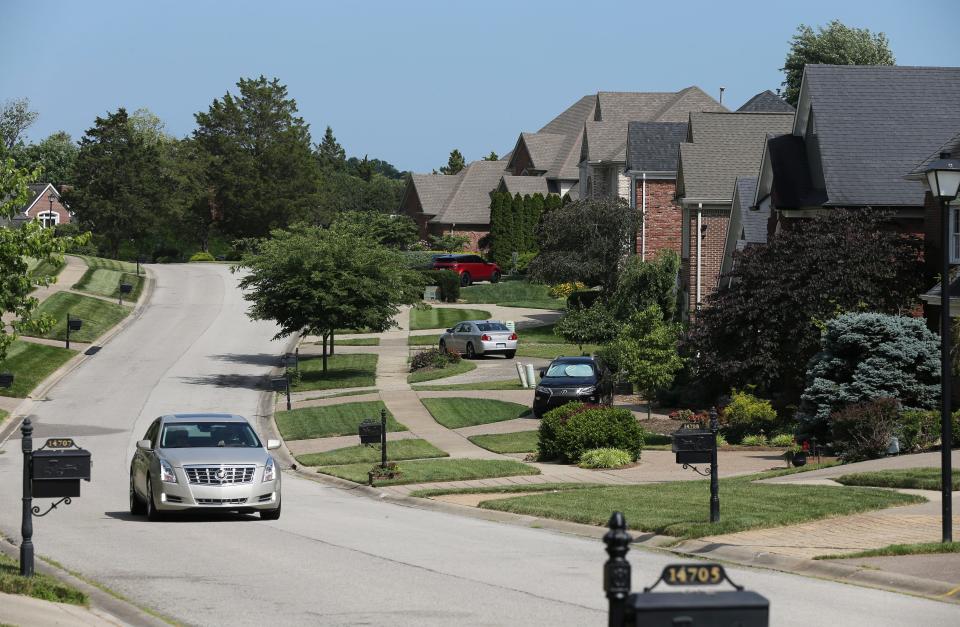
[[[277,77],[319,139],[430,171],[511,150],[598,90],[727,88],[736,107],[783,80],[800,23],[882,31],[900,65],[960,65],[957,0],[687,2],[0,0],[0,100],[28,97],[31,140],[75,139],[120,106],[174,135],[240,77]]]

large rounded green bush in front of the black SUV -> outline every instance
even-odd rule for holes
[[[576,464],[585,451],[618,448],[636,461],[643,450],[643,429],[627,409],[568,403],[547,412],[540,422],[537,452],[542,460]]]

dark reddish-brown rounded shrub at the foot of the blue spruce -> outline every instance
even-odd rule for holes
[[[830,414],[833,447],[845,462],[881,457],[897,428],[900,403],[880,398]]]

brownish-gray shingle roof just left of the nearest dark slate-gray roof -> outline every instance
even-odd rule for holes
[[[767,135],[792,127],[789,113],[691,113],[693,143],[680,144],[678,193],[729,202],[738,176],[756,176]]]

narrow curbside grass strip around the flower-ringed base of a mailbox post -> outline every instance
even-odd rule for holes
[[[540,470],[514,460],[500,459],[424,459],[398,464],[400,477],[376,481],[376,485],[399,485],[404,483],[432,483],[435,481],[466,481],[517,475],[539,475]],[[367,483],[369,463],[346,466],[321,466],[317,472],[354,483]]]

